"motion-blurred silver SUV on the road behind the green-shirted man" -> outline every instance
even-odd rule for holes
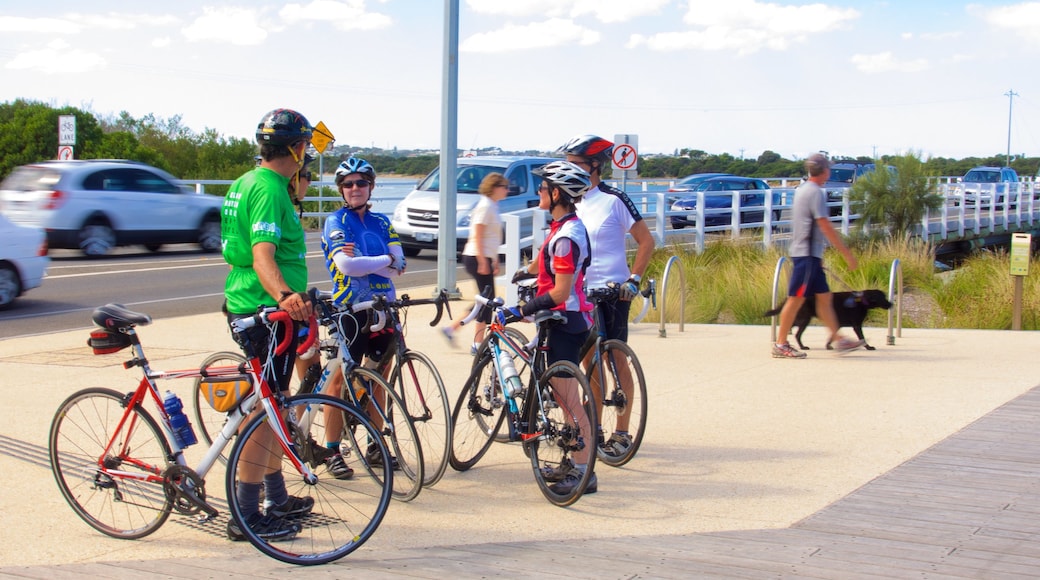
[[[43,161],[0,184],[0,210],[43,228],[50,247],[103,256],[118,245],[167,243],[220,249],[224,199],[196,193],[162,169],[135,161]]]

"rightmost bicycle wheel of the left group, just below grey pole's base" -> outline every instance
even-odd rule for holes
[[[444,380],[434,362],[415,350],[405,351],[390,376],[419,436],[422,484],[430,487],[444,476],[451,447],[451,410]]]

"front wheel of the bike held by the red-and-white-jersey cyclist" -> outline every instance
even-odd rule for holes
[[[451,411],[451,453],[456,471],[476,465],[495,441],[505,419],[508,403],[490,350],[477,361]]]

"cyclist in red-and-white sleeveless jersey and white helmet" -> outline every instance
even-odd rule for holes
[[[584,169],[567,161],[552,161],[535,169],[542,178],[538,188],[539,209],[548,210],[552,216],[549,233],[542,242],[535,260],[528,265],[527,273],[538,275],[536,296],[523,306],[512,308],[508,319],[531,316],[541,310],[558,310],[567,315],[567,322],[552,326],[549,331],[548,362],[570,361],[579,364],[581,345],[592,327],[592,304],[583,291],[586,269],[590,262],[589,234],[574,213],[575,204],[586,194],[592,182]],[[520,272],[518,272],[520,273]],[[553,379],[557,380],[557,379]],[[561,385],[562,392],[575,400],[568,401],[572,408],[579,407],[577,380],[574,378]],[[583,417],[583,414],[578,414]],[[590,432],[590,425],[578,425],[581,432]],[[574,467],[561,474],[561,480],[550,489],[556,494],[570,494],[581,482],[589,463],[591,446],[575,451]],[[598,491],[596,474],[593,473],[586,485],[586,494]]]

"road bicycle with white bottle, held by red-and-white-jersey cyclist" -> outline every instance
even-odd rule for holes
[[[547,363],[550,325],[565,321],[566,316],[558,311],[537,313],[537,346],[528,352],[504,332],[502,298],[476,295],[474,299],[476,304],[464,323],[474,320],[484,308],[492,310],[492,321],[487,348],[477,352],[478,360],[451,412],[449,464],[458,471],[476,465],[508,418],[511,440],[522,443],[542,494],[555,505],[571,505],[593,476],[596,407],[577,365],[569,361]],[[526,388],[513,363],[515,358],[527,365]],[[572,470],[575,453],[586,449],[587,467],[577,485],[557,491],[552,474]]]

